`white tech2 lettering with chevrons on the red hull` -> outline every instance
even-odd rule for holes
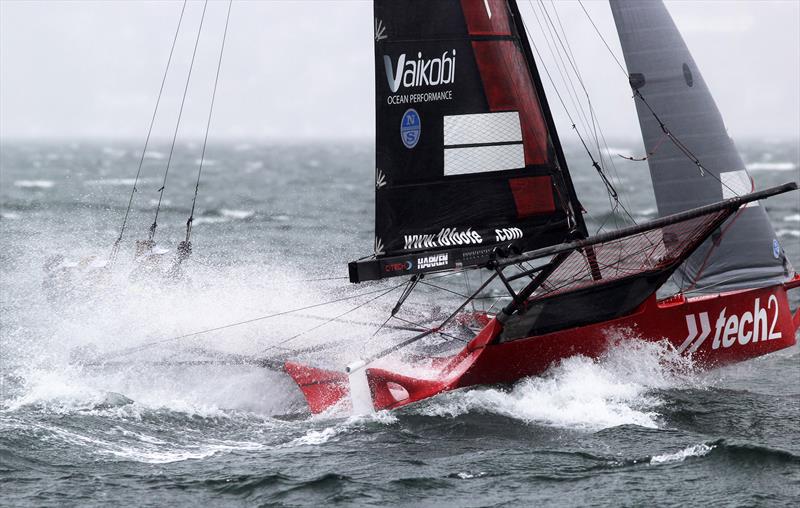
[[[738,314],[726,316],[726,310],[727,308],[723,308],[720,311],[713,327],[708,312],[687,315],[686,327],[689,334],[678,348],[678,352],[683,353],[688,350],[693,353],[697,351],[711,336],[711,332],[714,332],[711,349],[720,347],[727,349],[736,343],[745,346],[751,342],[763,342],[783,337],[780,330],[775,330],[775,325],[778,324],[778,298],[775,295],[769,296],[766,307],[761,307],[761,300],[756,298],[753,312],[747,311],[741,316]]]

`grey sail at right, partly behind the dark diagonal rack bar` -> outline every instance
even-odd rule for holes
[[[659,214],[755,190],[711,92],[664,4],[660,0],[610,3]],[[764,207],[756,202],[723,224],[683,264],[676,282],[684,289],[718,292],[783,282],[791,272]]]

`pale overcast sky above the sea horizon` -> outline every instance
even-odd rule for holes
[[[607,2],[584,4],[621,58]],[[0,136],[142,138],[181,5],[0,0]],[[538,39],[531,5],[520,5]],[[606,135],[638,137],[627,82],[577,1],[555,7]],[[800,1],[667,7],[734,138],[800,137]],[[159,137],[174,127],[202,8],[199,1],[187,7]],[[209,2],[182,137],[201,136],[205,127],[226,9],[227,2]],[[369,1],[235,0],[211,139],[371,138],[372,32]],[[551,104],[560,131],[568,131]]]

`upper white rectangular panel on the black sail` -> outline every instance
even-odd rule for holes
[[[444,117],[444,144],[482,145],[522,141],[517,111]]]

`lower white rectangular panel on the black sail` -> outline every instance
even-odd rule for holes
[[[522,143],[444,149],[444,174],[467,175],[525,167]]]

